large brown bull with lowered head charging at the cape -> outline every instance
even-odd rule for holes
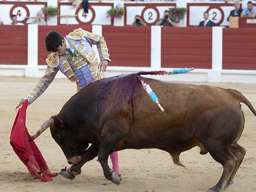
[[[73,179],[84,163],[98,156],[105,177],[116,184],[119,177],[108,166],[113,151],[158,148],[183,166],[180,153],[199,146],[201,154],[209,152],[223,166],[220,180],[208,192],[222,192],[232,184],[246,153],[237,144],[244,129],[240,102],[256,116],[252,104],[233,89],[145,78],[159,97],[165,109],[162,112],[137,77],[133,73],[89,84],[72,96],[58,115],[44,122],[29,141],[49,127],[67,162],[74,165],[62,176]]]

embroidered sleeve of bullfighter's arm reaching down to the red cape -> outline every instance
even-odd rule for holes
[[[49,67],[47,65],[44,76],[39,80],[38,84],[30,91],[27,96],[29,104],[35,101],[44,91],[47,89],[49,84],[53,81],[56,74],[58,72],[58,68]]]

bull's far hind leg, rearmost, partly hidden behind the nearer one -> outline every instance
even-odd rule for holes
[[[232,153],[236,156],[238,161],[237,161],[236,167],[235,167],[232,175],[230,176],[229,180],[227,181],[224,189],[227,189],[229,187],[229,185],[233,184],[233,178],[235,177],[236,172],[239,169],[239,167],[240,167],[240,165],[241,165],[241,163],[244,159],[244,155],[246,153],[245,148],[241,147],[237,143],[234,143],[234,144],[230,145],[230,151],[232,151]]]

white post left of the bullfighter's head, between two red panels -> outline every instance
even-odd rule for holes
[[[28,24],[28,66],[26,77],[38,77],[38,25]]]

